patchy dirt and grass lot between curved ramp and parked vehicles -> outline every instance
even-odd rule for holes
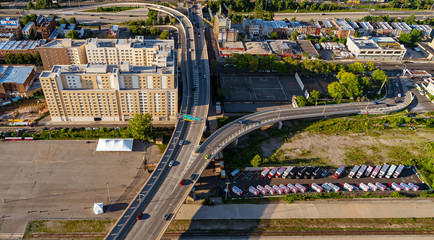
[[[284,143],[270,139],[262,143],[264,157],[281,149],[291,159],[317,159],[326,165],[381,164],[394,162],[393,151],[407,149],[417,155],[420,147],[434,139],[434,129],[413,132],[391,130],[377,134],[329,135],[302,132]]]

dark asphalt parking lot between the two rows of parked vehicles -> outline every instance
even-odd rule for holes
[[[383,185],[386,186],[386,190],[385,191],[394,191],[393,189],[390,188],[389,184],[392,182],[395,183],[413,183],[415,185],[417,185],[419,187],[418,191],[423,191],[423,190],[428,190],[429,187],[428,185],[422,183],[422,181],[420,180],[420,178],[416,175],[416,170],[413,166],[406,166],[401,174],[399,175],[398,178],[372,178],[372,177],[366,177],[366,176],[362,176],[361,178],[349,178],[348,174],[350,173],[351,169],[345,169],[344,172],[341,174],[341,176],[337,179],[333,178],[333,174],[335,173],[336,169],[325,169],[326,171],[326,175],[324,177],[320,176],[318,178],[277,178],[277,177],[272,177],[272,178],[268,178],[268,177],[262,177],[261,176],[261,172],[262,170],[255,170],[255,171],[240,171],[238,174],[236,174],[235,176],[231,176],[231,174],[229,173],[229,181],[231,186],[237,186],[239,187],[241,190],[243,190],[243,196],[245,197],[252,197],[255,196],[254,194],[250,193],[248,191],[248,188],[250,186],[265,186],[265,185],[269,185],[269,186],[273,186],[273,185],[277,185],[279,186],[280,184],[283,185],[287,185],[288,183],[291,183],[293,185],[295,185],[296,183],[299,183],[301,185],[303,185],[304,187],[306,187],[306,192],[315,192],[315,190],[313,190],[310,187],[310,184],[312,183],[316,183],[318,185],[322,185],[324,183],[333,183],[339,187],[341,187],[340,191],[346,191],[344,190],[344,188],[342,188],[342,184],[344,183],[348,183],[351,184],[352,186],[356,187],[354,189],[354,192],[359,193],[359,194],[363,194],[365,193],[365,191],[363,191],[362,189],[358,189],[358,184],[360,183],[373,183],[375,184],[376,182],[379,182]],[[371,190],[370,190],[371,191]],[[377,190],[380,191],[380,190]],[[402,190],[404,191],[404,190]],[[326,189],[323,189],[323,192],[327,192]],[[410,190],[410,192],[412,192]],[[232,194],[233,196],[235,194]],[[278,195],[276,193],[276,195]],[[284,194],[282,194],[284,195]]]

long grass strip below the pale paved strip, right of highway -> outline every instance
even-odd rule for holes
[[[174,220],[167,232],[433,231],[433,218],[315,218]],[[360,233],[360,232],[359,232]],[[346,232],[348,234],[348,232]]]

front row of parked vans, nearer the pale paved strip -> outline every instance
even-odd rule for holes
[[[376,182],[376,183],[358,183],[358,184],[349,184],[349,183],[342,183],[341,185],[339,184],[334,184],[334,183],[323,183],[323,184],[317,184],[317,183],[311,183],[309,184],[309,187],[311,188],[312,191],[317,192],[317,193],[322,193],[322,192],[340,192],[340,191],[348,191],[348,192],[352,192],[352,191],[385,191],[385,190],[394,190],[394,191],[401,191],[404,190],[406,192],[408,191],[414,191],[417,192],[419,190],[419,186],[417,186],[414,183],[389,183],[388,186]],[[242,196],[244,194],[244,191],[237,187],[237,186],[233,186],[232,188],[232,192],[235,193],[238,196]],[[251,194],[255,195],[255,196],[259,196],[260,194],[262,195],[283,195],[283,194],[290,194],[290,193],[304,193],[306,192],[308,189],[299,184],[291,184],[288,183],[287,185],[284,184],[279,184],[279,185],[258,185],[258,186],[249,186],[249,188],[247,189],[248,192],[250,192]]]

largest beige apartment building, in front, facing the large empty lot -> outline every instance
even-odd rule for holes
[[[136,113],[172,121],[178,112],[176,69],[129,62],[56,65],[40,81],[54,122],[126,121]]]

